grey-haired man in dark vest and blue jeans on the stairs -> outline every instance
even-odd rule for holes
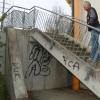
[[[87,11],[87,24],[95,27],[100,28],[100,24],[98,21],[98,14],[95,10],[95,8],[91,7],[91,3],[88,1],[84,2],[84,10]],[[97,32],[96,30],[88,27],[88,31],[91,32],[91,53],[90,53],[90,61],[96,61],[99,58],[99,34],[100,32]]]

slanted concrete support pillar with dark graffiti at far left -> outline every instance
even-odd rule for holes
[[[17,35],[13,28],[7,30],[6,75],[11,100],[28,100]]]

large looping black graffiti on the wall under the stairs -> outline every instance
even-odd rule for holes
[[[52,56],[36,41],[30,43],[29,66],[25,73],[25,78],[34,76],[48,76],[51,73],[48,67]]]

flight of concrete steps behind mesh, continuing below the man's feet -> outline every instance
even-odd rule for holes
[[[58,35],[47,33],[50,37],[52,37],[55,41],[59,42],[61,45],[66,47],[66,49],[70,50],[72,53],[77,55],[80,59],[86,61],[91,66],[95,68],[95,70],[100,70],[100,61],[92,62],[89,61],[90,49],[85,47],[81,42],[75,40],[71,36],[67,35]]]

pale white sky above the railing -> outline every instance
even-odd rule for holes
[[[0,0],[0,2],[2,1],[3,0]],[[5,0],[5,1],[6,3],[11,4],[11,5],[6,4],[6,10],[10,8],[12,5],[17,5],[25,8],[40,6],[48,10],[52,10],[55,6],[57,6],[57,7],[61,7],[65,15],[71,15],[71,8],[66,3],[65,0]],[[2,8],[2,4],[0,3],[0,11],[2,11],[1,8]]]

